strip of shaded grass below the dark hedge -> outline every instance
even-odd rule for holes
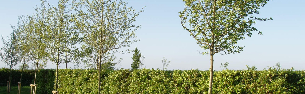
[[[22,86],[21,94],[30,94],[30,86]],[[18,86],[12,86],[10,94],[17,94]],[[6,94],[6,86],[0,87],[0,94]]]

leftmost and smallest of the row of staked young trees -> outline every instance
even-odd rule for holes
[[[11,37],[7,37],[7,39],[4,39],[2,37],[3,46],[0,48],[0,57],[1,61],[3,61],[6,65],[9,66],[9,81],[11,81],[11,74],[12,74],[12,67],[16,66],[18,64],[18,61],[20,59],[19,55],[20,52],[19,49],[17,49],[17,29],[12,26],[13,32],[11,34]],[[9,82],[9,91],[11,90],[11,82]]]

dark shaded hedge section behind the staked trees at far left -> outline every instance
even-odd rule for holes
[[[36,75],[37,82],[37,93],[38,94],[47,94],[54,90],[54,79],[55,79],[54,69],[41,69],[38,70]],[[11,86],[18,86],[20,81],[21,70],[12,70],[12,79]],[[21,85],[30,86],[34,84],[35,70],[23,70]],[[1,68],[0,69],[0,86],[7,86],[7,81],[9,79],[9,69]]]

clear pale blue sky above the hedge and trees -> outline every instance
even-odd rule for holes
[[[57,0],[50,0],[52,5]],[[214,55],[214,70],[221,70],[221,63],[228,62],[228,69],[242,70],[255,66],[257,70],[273,67],[277,62],[281,68],[296,70],[305,69],[305,0],[273,0],[260,8],[261,18],[272,17],[273,20],[258,21],[253,25],[263,35],[253,33],[238,41],[237,45],[245,45],[240,53],[229,55]],[[20,15],[35,13],[34,7],[40,5],[39,0],[0,0],[0,34],[3,37],[12,33],[11,25],[17,25]],[[131,44],[129,48],[137,47],[145,56],[145,68],[162,68],[162,59],[170,62],[169,70],[208,70],[210,56],[202,55],[205,50],[196,43],[189,32],[184,30],[180,23],[178,12],[184,9],[182,0],[130,0],[128,6],[144,12],[136,18],[135,25],[142,25],[136,31],[139,42]],[[2,41],[0,47],[3,46]],[[118,68],[128,69],[132,63],[133,53],[116,53],[122,58]],[[116,61],[116,60],[115,60]],[[18,64],[17,66],[19,66]],[[64,68],[64,64],[59,64]],[[0,61],[0,67],[8,67]],[[68,67],[74,68],[72,63]],[[84,67],[84,66],[83,66]],[[116,66],[115,66],[116,67]],[[14,67],[17,68],[17,67]],[[46,68],[56,68],[55,64],[48,62]]]

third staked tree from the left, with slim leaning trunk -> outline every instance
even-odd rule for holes
[[[40,0],[40,3],[41,8],[35,8],[37,13],[28,15],[27,26],[24,30],[30,34],[30,40],[28,41],[30,46],[29,54],[31,61],[36,64],[34,84],[36,83],[36,74],[38,66],[40,65],[39,62],[45,63],[47,61],[46,58],[48,57],[46,53],[47,45],[43,36],[44,32],[46,32],[48,29],[45,21],[47,21],[48,18],[46,7],[49,6],[49,4],[44,0]]]

